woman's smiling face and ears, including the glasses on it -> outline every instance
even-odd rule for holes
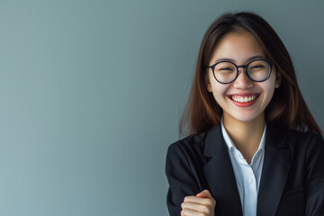
[[[224,57],[230,61],[221,60]],[[236,121],[265,121],[264,111],[274,95],[278,78],[275,67],[266,61],[264,49],[253,34],[249,31],[228,33],[218,42],[210,62],[216,64],[209,70],[207,89],[223,111],[225,127],[238,123]],[[240,66],[243,73],[234,62],[247,64]],[[225,82],[220,83],[220,80]]]

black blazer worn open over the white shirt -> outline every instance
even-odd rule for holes
[[[216,201],[216,216],[243,215],[220,125],[171,144],[166,177],[166,204],[172,216],[180,215],[184,196],[204,189]],[[257,215],[324,215],[324,141],[320,135],[266,123]]]

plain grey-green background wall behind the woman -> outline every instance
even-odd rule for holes
[[[290,51],[324,127],[324,4],[0,1],[0,215],[167,215],[166,148],[202,35],[249,10]]]

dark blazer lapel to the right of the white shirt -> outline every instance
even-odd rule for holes
[[[286,129],[266,123],[266,152],[257,196],[257,215],[275,215],[291,162]]]

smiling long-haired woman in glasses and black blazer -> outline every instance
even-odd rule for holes
[[[282,40],[257,14],[206,31],[166,155],[170,215],[324,215],[324,141]]]

